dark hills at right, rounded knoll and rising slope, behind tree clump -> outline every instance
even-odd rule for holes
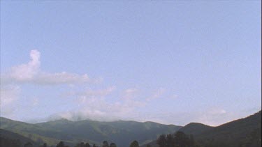
[[[261,146],[261,111],[217,127],[189,123],[179,131],[193,134],[198,146],[258,147]],[[150,145],[157,147],[157,141],[150,142]]]

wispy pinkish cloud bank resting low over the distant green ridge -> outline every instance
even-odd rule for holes
[[[123,98],[112,102],[107,97],[110,93],[115,91],[115,86],[101,89],[88,89],[82,92],[71,93],[71,96],[76,97],[78,109],[72,111],[64,111],[59,114],[54,114],[50,118],[67,118],[70,120],[92,119],[95,121],[115,121],[119,119],[126,119],[135,116],[138,112],[137,108],[144,107],[145,102],[134,100],[133,98],[126,98],[136,93],[137,89],[129,88],[124,91]]]

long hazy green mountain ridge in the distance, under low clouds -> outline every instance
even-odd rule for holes
[[[146,144],[156,139],[159,134],[175,132],[181,128],[181,126],[154,122],[68,121],[66,119],[31,124],[0,118],[0,124],[2,129],[29,137],[36,142],[55,145],[62,140],[69,146],[81,141],[89,142],[89,144],[101,144],[104,140],[114,142],[117,146],[129,146],[133,140],[137,140],[140,144]]]

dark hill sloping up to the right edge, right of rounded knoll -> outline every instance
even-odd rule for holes
[[[201,144],[209,144],[209,146],[259,146],[261,145],[261,111],[247,118],[196,134],[196,139]]]

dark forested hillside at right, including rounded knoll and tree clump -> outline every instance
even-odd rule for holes
[[[177,138],[179,141],[177,141]],[[169,140],[169,141],[168,141]],[[189,123],[178,133],[163,134],[149,145],[152,147],[180,146],[198,147],[258,147],[261,146],[261,111],[217,127],[201,123]],[[168,143],[170,142],[170,143]],[[194,142],[194,145],[192,145]]]

